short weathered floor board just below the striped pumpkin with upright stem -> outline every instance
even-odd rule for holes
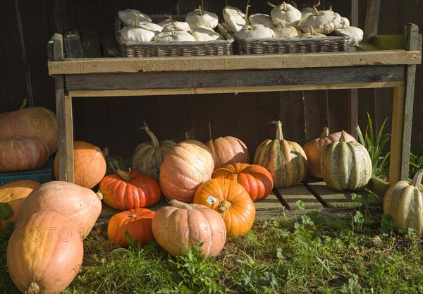
[[[275,193],[279,196],[282,204],[290,210],[298,209],[298,200],[304,202],[305,209],[323,208],[321,202],[303,184],[290,188],[275,189]]]

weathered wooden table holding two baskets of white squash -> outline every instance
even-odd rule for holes
[[[74,182],[73,97],[211,94],[393,87],[389,180],[405,180],[421,35],[406,25],[401,50],[159,58],[63,59],[62,36],[49,42],[56,78],[59,180]],[[164,82],[165,81],[165,82]],[[340,98],[341,99],[341,98]]]

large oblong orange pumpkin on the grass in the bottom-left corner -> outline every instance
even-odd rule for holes
[[[77,228],[57,212],[36,212],[18,222],[8,240],[7,267],[22,293],[61,293],[82,264]]]

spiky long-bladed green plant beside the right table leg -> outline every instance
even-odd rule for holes
[[[360,144],[366,147],[367,151],[369,152],[370,159],[372,159],[372,173],[375,176],[380,176],[383,171],[386,171],[386,169],[388,169],[389,155],[391,154],[391,152],[387,152],[386,154],[384,154],[384,147],[391,138],[391,134],[383,133],[387,120],[388,118],[385,118],[376,136],[373,131],[372,118],[370,118],[369,113],[367,113],[368,125],[366,127],[364,136],[360,125],[357,125],[356,128]]]

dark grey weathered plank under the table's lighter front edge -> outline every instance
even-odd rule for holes
[[[387,75],[386,73],[389,73]],[[137,90],[202,87],[328,85],[348,82],[402,81],[404,66],[297,68],[208,73],[110,73],[66,75],[67,90]]]

